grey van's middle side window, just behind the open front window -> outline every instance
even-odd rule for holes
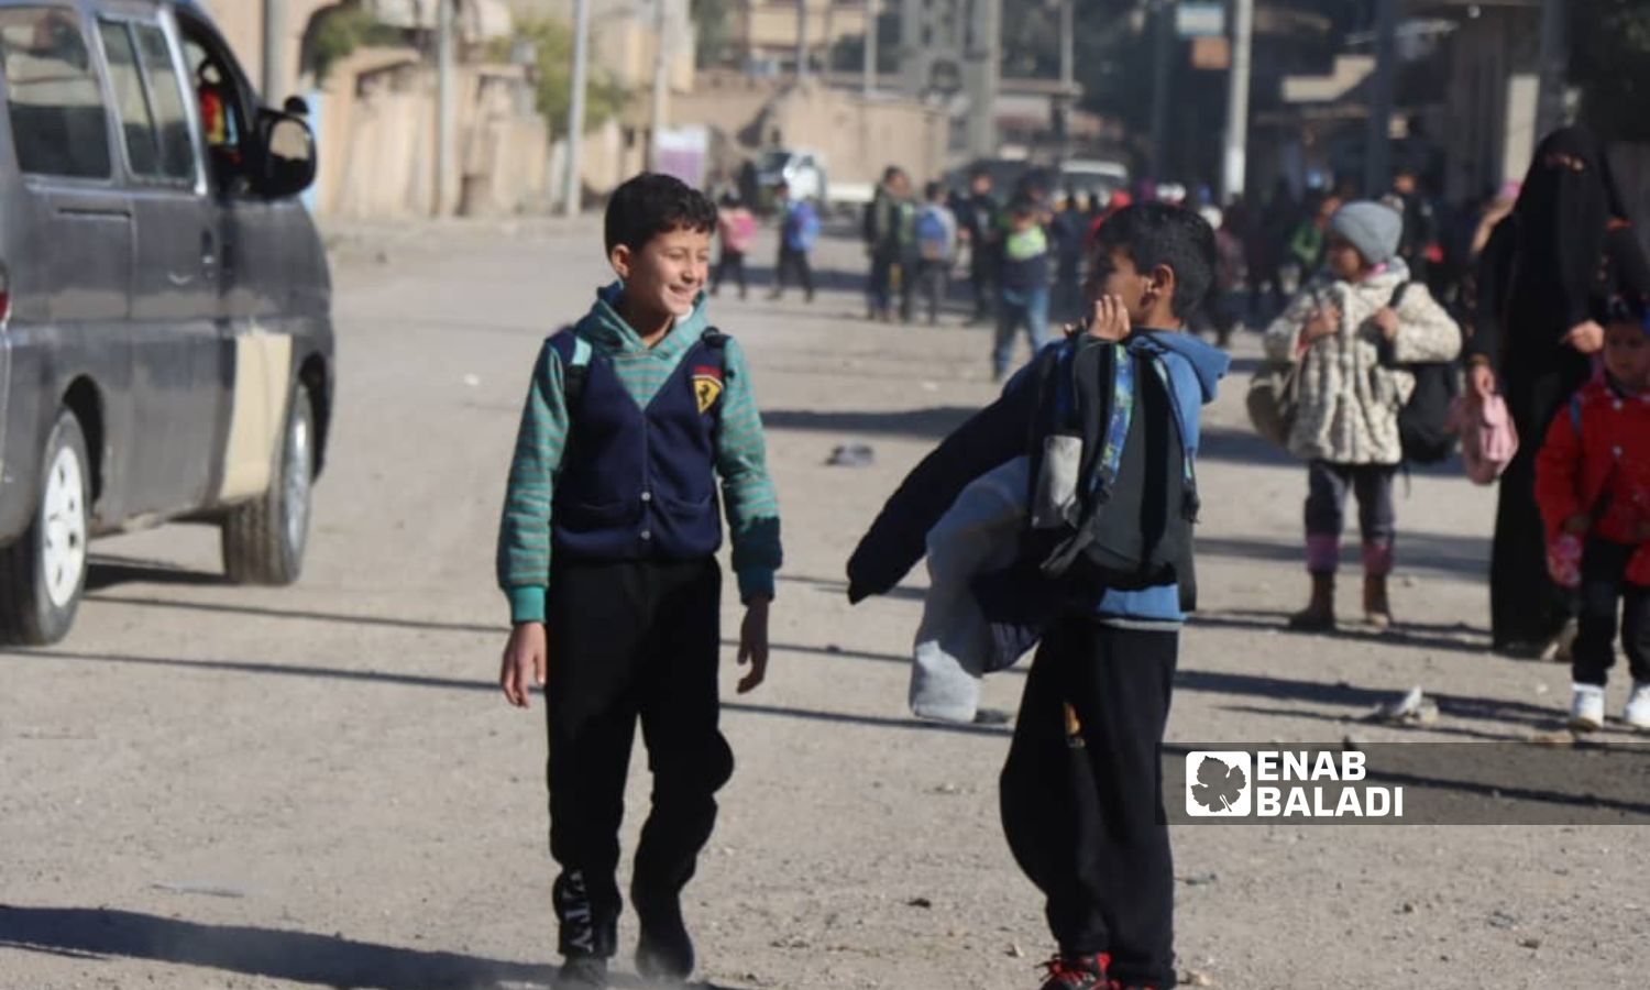
[[[158,26],[140,23],[99,21],[97,30],[109,56],[109,81],[132,173],[195,182],[190,122],[167,36]]]

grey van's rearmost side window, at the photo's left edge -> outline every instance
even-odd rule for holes
[[[0,8],[0,59],[18,168],[109,178],[109,114],[74,12]]]

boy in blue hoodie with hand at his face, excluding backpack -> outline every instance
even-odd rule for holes
[[[1163,365],[1195,457],[1198,412],[1228,368],[1224,353],[1185,333],[1214,277],[1214,231],[1196,213],[1147,203],[1112,216],[1094,251],[1086,332],[1125,340]],[[848,561],[850,601],[898,584],[957,492],[1026,454],[1035,393],[1021,371],[911,472]],[[1176,582],[1101,589],[1092,607],[1043,630],[1031,662],[1002,774],[1002,815],[1016,861],[1048,898],[1059,945],[1043,990],[1175,985],[1160,749],[1181,591]]]

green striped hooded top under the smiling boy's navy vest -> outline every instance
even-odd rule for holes
[[[693,314],[648,348],[619,315],[620,285],[596,294],[596,305],[579,320],[574,333],[612,363],[625,391],[639,406],[647,404],[681,363],[683,355],[706,328],[705,300]],[[723,351],[726,391],[714,432],[716,474],[721,478],[728,530],[733,536],[733,569],[739,576],[739,597],[774,596],[779,546],[779,500],[767,474],[762,417],[751,391],[751,373],[738,342]],[[505,488],[503,520],[498,526],[498,584],[510,599],[512,622],[543,622],[544,592],[549,587],[549,516],[568,439],[568,406],[561,391],[561,358],[546,343],[533,366],[510,483]]]

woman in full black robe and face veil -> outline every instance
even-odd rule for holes
[[[1518,436],[1546,434],[1592,376],[1604,346],[1594,320],[1612,297],[1650,295],[1650,264],[1629,224],[1604,147],[1582,127],[1548,135],[1518,203],[1485,246],[1468,355],[1467,399],[1500,389]],[[1490,625],[1498,652],[1568,652],[1574,624],[1546,568],[1534,497],[1538,444],[1502,475],[1490,549]]]

